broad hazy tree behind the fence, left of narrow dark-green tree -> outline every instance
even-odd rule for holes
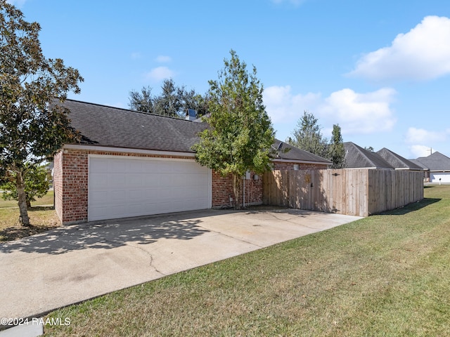
[[[317,124],[314,114],[307,111],[303,112],[302,118],[297,122],[293,138],[288,138],[288,143],[323,158],[326,158],[328,154],[328,140],[323,138],[321,126]]]

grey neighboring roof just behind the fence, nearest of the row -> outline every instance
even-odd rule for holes
[[[364,150],[352,142],[344,143],[345,167],[347,169],[394,169],[378,153]]]

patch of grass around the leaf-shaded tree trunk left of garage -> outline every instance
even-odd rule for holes
[[[28,210],[32,226],[24,227],[19,223],[17,201],[0,199],[0,242],[12,241],[44,232],[60,225],[53,209],[53,191],[32,202]]]

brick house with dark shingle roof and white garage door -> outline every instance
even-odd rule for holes
[[[63,224],[230,205],[231,177],[200,166],[191,150],[207,124],[77,100],[64,104],[82,137],[54,157],[55,209]],[[330,164],[279,141],[273,147],[274,169]],[[262,178],[245,178],[245,205],[262,204]]]

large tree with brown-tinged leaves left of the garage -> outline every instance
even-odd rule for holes
[[[68,91],[79,93],[78,70],[41,51],[37,22],[0,0],[0,179],[13,177],[20,220],[30,225],[25,176],[27,163],[37,164],[77,139],[62,103]]]

